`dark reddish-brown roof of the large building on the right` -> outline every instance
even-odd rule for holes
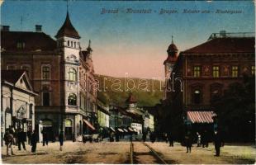
[[[183,54],[225,54],[225,53],[254,53],[254,37],[223,37],[207,40]]]

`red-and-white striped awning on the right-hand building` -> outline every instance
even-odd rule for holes
[[[213,123],[214,111],[187,111],[187,120],[192,123]]]

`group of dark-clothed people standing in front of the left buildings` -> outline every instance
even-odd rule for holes
[[[42,130],[41,134],[43,135],[43,146],[48,145],[47,132]],[[26,139],[27,136],[27,139]],[[17,145],[18,150],[21,150],[21,145],[24,150],[26,150],[25,142],[27,140],[27,144],[31,145],[31,152],[36,153],[36,144],[38,142],[38,134],[36,134],[36,130],[28,130],[27,133],[24,132],[21,128],[18,128],[16,131],[13,128],[9,128],[5,131],[3,140],[7,146],[7,156],[10,156],[9,150],[11,150],[11,154],[13,153],[12,145]],[[64,144],[64,131],[60,131],[59,133],[59,150],[62,151]]]

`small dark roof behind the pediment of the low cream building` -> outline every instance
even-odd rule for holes
[[[7,81],[15,84],[23,75],[24,70],[2,70],[1,81]]]

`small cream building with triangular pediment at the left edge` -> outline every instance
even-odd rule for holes
[[[7,129],[35,129],[35,97],[28,75],[23,70],[2,70],[1,133]]]

